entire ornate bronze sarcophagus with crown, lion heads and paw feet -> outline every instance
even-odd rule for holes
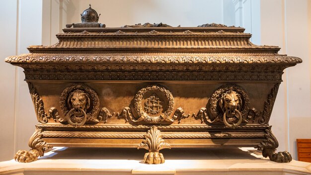
[[[275,153],[268,122],[283,70],[300,58],[252,44],[240,27],[105,28],[87,10],[55,45],[5,60],[24,69],[39,121],[17,161],[52,146],[145,148],[150,164],[175,147],[255,147],[292,160]]]

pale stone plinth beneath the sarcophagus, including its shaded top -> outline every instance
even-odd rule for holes
[[[54,147],[35,162],[0,162],[0,175],[311,175],[311,163],[275,163],[252,150],[173,148],[160,151],[164,164],[147,165],[146,150]]]

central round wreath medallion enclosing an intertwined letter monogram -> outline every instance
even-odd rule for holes
[[[174,108],[174,98],[165,87],[154,85],[140,89],[135,95],[134,107],[138,115],[134,122],[174,122],[169,118]]]

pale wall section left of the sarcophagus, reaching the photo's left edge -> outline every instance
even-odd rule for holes
[[[41,44],[42,0],[1,1],[0,10],[4,15],[0,45],[0,160],[8,160],[17,149],[29,149],[27,143],[37,121],[23,70],[4,63],[4,58],[28,53],[26,47]]]

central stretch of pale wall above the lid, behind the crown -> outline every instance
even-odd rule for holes
[[[98,22],[106,27],[146,22],[187,27],[224,22],[222,0],[70,0],[67,21],[81,22],[80,13],[89,3],[101,13]]]

